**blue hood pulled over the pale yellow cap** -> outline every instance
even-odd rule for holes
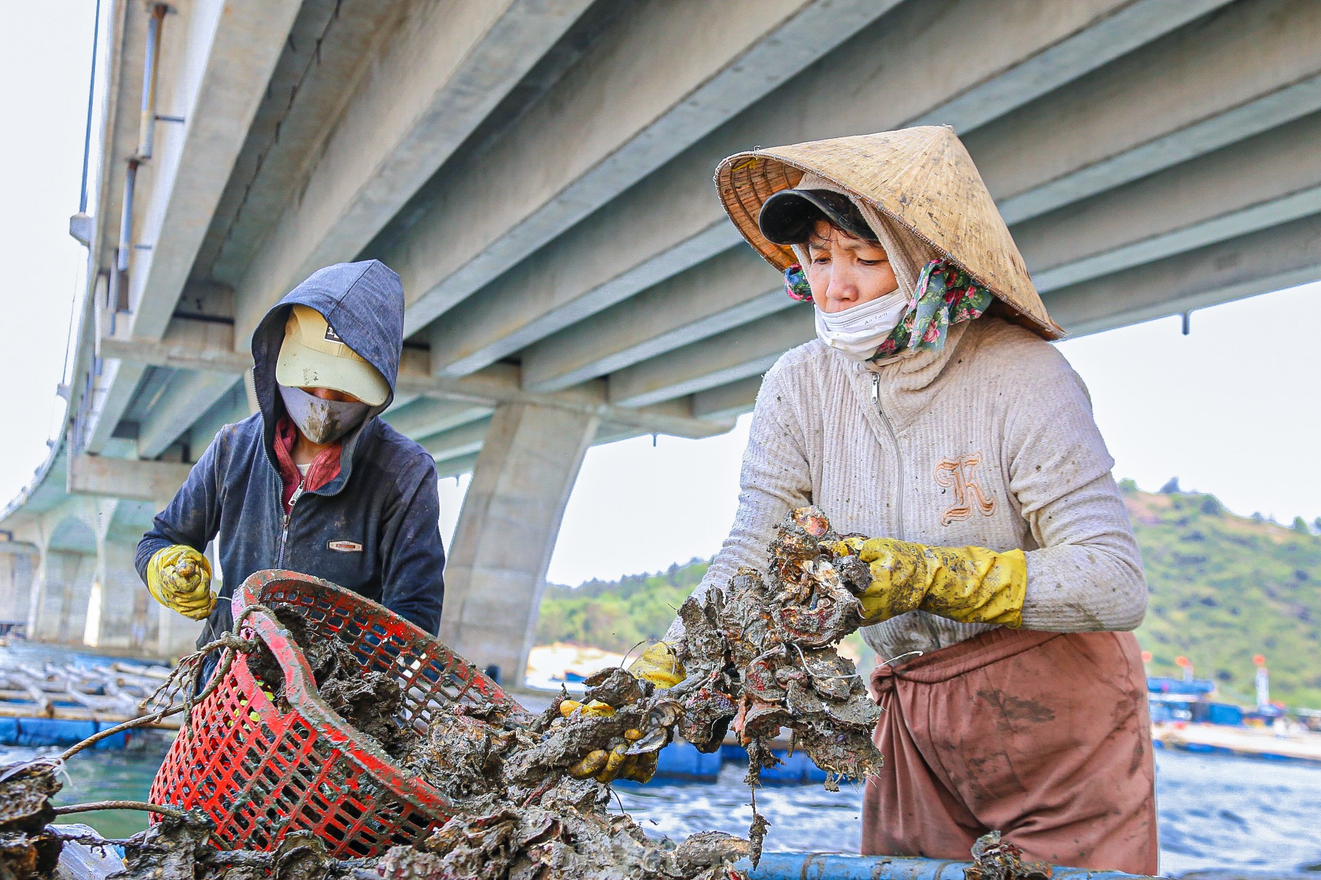
[[[390,394],[374,406],[362,425],[343,437],[339,453],[339,476],[318,489],[334,495],[349,479],[353,454],[361,437],[374,429],[376,417],[395,398],[399,358],[404,346],[404,288],[399,276],[380,260],[337,263],[317,269],[306,281],[291,290],[262,318],[252,334],[252,384],[262,410],[263,439],[271,466],[275,425],[284,414],[275,381],[276,360],[284,343],[284,325],[293,306],[320,311],[345,344],[376,368],[390,384]],[[276,467],[276,470],[279,470]]]

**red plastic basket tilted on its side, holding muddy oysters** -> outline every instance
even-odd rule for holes
[[[518,703],[495,682],[403,617],[296,571],[258,571],[234,598],[234,615],[263,604],[301,610],[312,629],[343,641],[365,670],[388,672],[403,687],[400,722],[425,731],[452,703]],[[284,670],[281,714],[238,654],[210,697],[193,708],[152,784],[153,803],[201,807],[222,848],[269,850],[309,830],[339,858],[370,856],[411,843],[452,814],[435,788],[396,767],[321,702],[303,652],[260,611],[244,621]]]

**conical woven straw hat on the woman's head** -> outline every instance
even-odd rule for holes
[[[1063,330],[1041,302],[972,157],[947,125],[836,137],[736,153],[716,169],[725,211],[748,243],[777,269],[797,263],[787,247],[762,237],[757,215],[779,190],[814,172],[863,198],[930,241],[1046,339]]]

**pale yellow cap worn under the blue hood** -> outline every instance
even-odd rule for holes
[[[370,406],[390,397],[386,377],[345,344],[320,311],[301,305],[289,310],[284,323],[275,381],[287,388],[329,388]]]

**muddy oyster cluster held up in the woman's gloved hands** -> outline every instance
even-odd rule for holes
[[[836,650],[861,627],[859,596],[872,582],[867,563],[835,549],[841,537],[820,509],[791,511],[765,578],[740,569],[727,591],[679,608],[688,678],[670,691],[683,707],[678,732],[711,752],[732,728],[748,748],[749,784],[778,763],[769,741],[781,728],[828,773],[831,790],[880,767],[872,731],[881,710]]]

